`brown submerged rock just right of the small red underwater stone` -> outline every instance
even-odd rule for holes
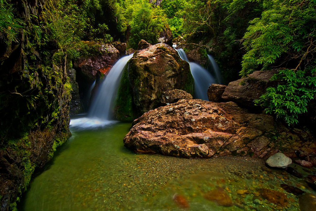
[[[223,207],[230,207],[233,206],[233,201],[227,195],[223,188],[217,188],[215,190],[211,190],[203,195],[203,198],[206,200],[216,202],[216,204],[223,206]]]

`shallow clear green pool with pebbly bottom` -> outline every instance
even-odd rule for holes
[[[173,200],[183,196],[186,210],[275,210],[276,205],[254,200],[257,188],[279,190],[284,180],[312,192],[282,171],[261,170],[262,160],[246,157],[184,159],[163,155],[139,155],[123,146],[131,124],[118,123],[98,130],[72,131],[72,137],[56,152],[44,171],[33,178],[21,198],[24,211],[183,210]],[[301,171],[298,169],[298,171]],[[286,178],[286,179],[284,179]],[[223,207],[204,199],[218,187],[239,206]],[[238,195],[237,190],[248,190]],[[283,210],[299,210],[298,198]],[[257,200],[258,201],[258,200]],[[244,208],[243,208],[244,206]]]

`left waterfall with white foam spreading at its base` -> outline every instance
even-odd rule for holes
[[[70,126],[91,128],[106,126],[116,122],[112,120],[114,101],[124,67],[132,56],[132,54],[124,56],[115,63],[105,80],[99,86],[89,109],[88,117],[70,120]]]

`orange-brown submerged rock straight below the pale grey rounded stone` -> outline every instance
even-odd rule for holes
[[[288,197],[276,190],[270,190],[268,188],[258,189],[258,192],[262,196],[262,198],[268,200],[270,203],[279,204],[285,207],[288,204]]]

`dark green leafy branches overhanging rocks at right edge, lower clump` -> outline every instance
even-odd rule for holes
[[[264,106],[266,113],[276,114],[277,118],[284,119],[289,125],[298,123],[298,115],[307,112],[307,103],[316,96],[315,72],[316,68],[309,73],[280,70],[271,80],[281,80],[284,84],[269,87],[255,103]]]

